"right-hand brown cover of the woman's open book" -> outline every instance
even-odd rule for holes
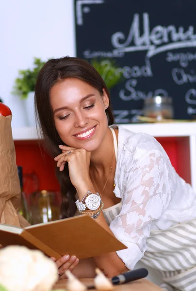
[[[41,242],[40,249],[50,257],[55,257],[51,255],[51,250],[58,253],[59,257],[68,254],[85,259],[127,248],[88,215],[37,224],[24,229],[24,237],[25,234],[26,238],[27,234],[31,234],[32,239],[34,237]]]

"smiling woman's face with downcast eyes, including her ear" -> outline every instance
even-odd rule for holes
[[[50,90],[50,105],[56,130],[67,146],[93,151],[101,144],[108,127],[104,92],[76,78],[65,79]]]

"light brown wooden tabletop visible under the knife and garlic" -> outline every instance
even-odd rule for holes
[[[93,284],[93,279],[81,279],[81,281],[86,286],[91,286]],[[56,288],[65,288],[66,287],[66,279],[59,280],[55,286]],[[95,290],[95,289],[91,289]],[[134,282],[122,284],[122,285],[114,285],[114,291],[163,291],[159,286],[153,284],[147,279],[140,279]]]

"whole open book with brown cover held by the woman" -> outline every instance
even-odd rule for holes
[[[64,255],[85,259],[127,248],[87,215],[25,228],[0,224],[0,244],[39,249],[56,259]]]

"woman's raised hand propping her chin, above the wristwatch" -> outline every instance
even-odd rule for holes
[[[76,149],[70,146],[59,146],[59,148],[62,149],[62,154],[54,158],[57,167],[63,171],[65,163],[68,162],[71,183],[79,192],[79,189],[85,188],[91,182],[89,177],[91,152],[84,148]]]

